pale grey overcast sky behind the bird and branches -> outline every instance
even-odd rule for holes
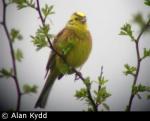
[[[93,48],[88,61],[81,72],[96,80],[100,74],[100,67],[104,66],[104,76],[109,80],[108,91],[112,96],[106,103],[110,110],[125,110],[128,104],[131,84],[133,78],[124,76],[124,64],[136,64],[135,46],[127,37],[119,36],[120,27],[126,22],[132,23],[132,16],[142,12],[145,19],[150,8],[143,4],[144,0],[41,0],[41,6],[45,3],[54,5],[55,13],[49,18],[52,21],[51,32],[57,34],[66,24],[70,15],[75,11],[82,11],[87,15],[89,30],[93,38]],[[45,66],[49,56],[49,49],[45,48],[36,51],[31,42],[30,35],[34,35],[40,20],[36,11],[26,8],[18,11],[15,5],[11,5],[7,11],[7,26],[9,30],[16,28],[23,33],[24,39],[15,43],[15,48],[21,48],[24,59],[17,62],[19,83],[38,85],[37,94],[29,94],[22,97],[21,110],[34,109],[34,104],[44,85]],[[0,21],[2,20],[2,3],[0,1]],[[133,29],[138,32],[137,26]],[[140,51],[144,47],[150,48],[150,36],[145,34],[140,40]],[[8,41],[2,26],[0,26],[0,68],[11,67]],[[150,58],[142,62],[138,83],[150,86]],[[76,100],[75,91],[83,87],[82,81],[74,82],[74,75],[63,77],[57,80],[48,104],[44,110],[50,111],[81,111],[87,106],[84,101]],[[93,87],[95,88],[95,87]],[[146,100],[146,93],[142,94],[143,99],[137,97],[133,100],[132,110],[150,110],[150,101]],[[0,79],[0,110],[15,108],[16,89],[12,79]]]

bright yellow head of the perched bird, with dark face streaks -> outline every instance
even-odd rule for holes
[[[77,28],[80,30],[87,30],[86,15],[82,12],[75,12],[70,17],[70,20],[67,23],[68,27]]]

